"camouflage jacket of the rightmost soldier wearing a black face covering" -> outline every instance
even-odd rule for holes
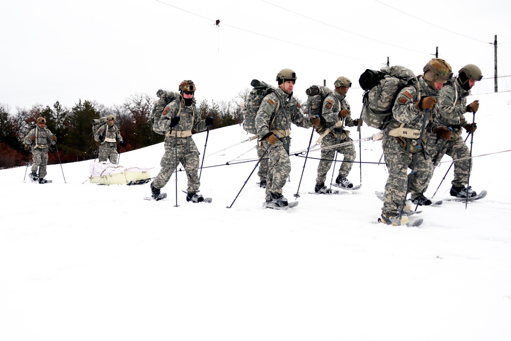
[[[461,127],[468,122],[463,116],[467,112],[467,96],[470,91],[463,89],[456,80],[447,82],[439,92],[440,111],[431,129],[451,127],[455,138],[461,134]]]

